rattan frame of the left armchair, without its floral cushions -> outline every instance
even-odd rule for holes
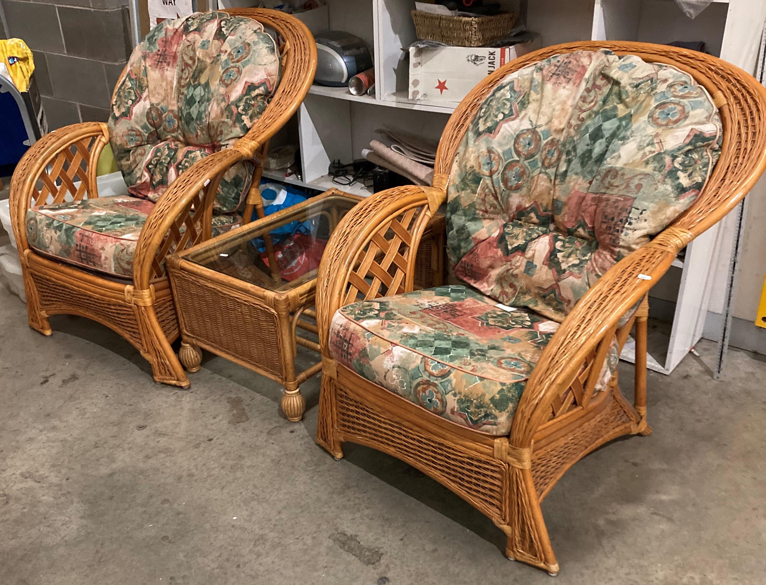
[[[155,381],[180,387],[188,387],[189,381],[170,345],[178,337],[178,322],[165,257],[211,237],[218,185],[238,163],[251,162],[248,168],[254,169],[244,205],[245,221],[254,210],[263,216],[258,191],[260,158],[270,138],[300,106],[316,70],[316,44],[308,28],[296,18],[255,8],[224,12],[253,18],[278,31],[284,41],[280,83],[249,131],[231,148],[195,162],[172,181],[153,206],[136,198],[149,204],[151,211],[132,252],[132,276],[106,277],[39,253],[30,246],[25,226],[33,206],[98,198],[96,166],[110,140],[106,124],[80,123],[44,136],[21,159],[11,182],[11,214],[24,272],[29,325],[51,335],[50,315],[66,313],[93,319],[139,349],[152,364]],[[123,72],[121,79],[125,75]]]

